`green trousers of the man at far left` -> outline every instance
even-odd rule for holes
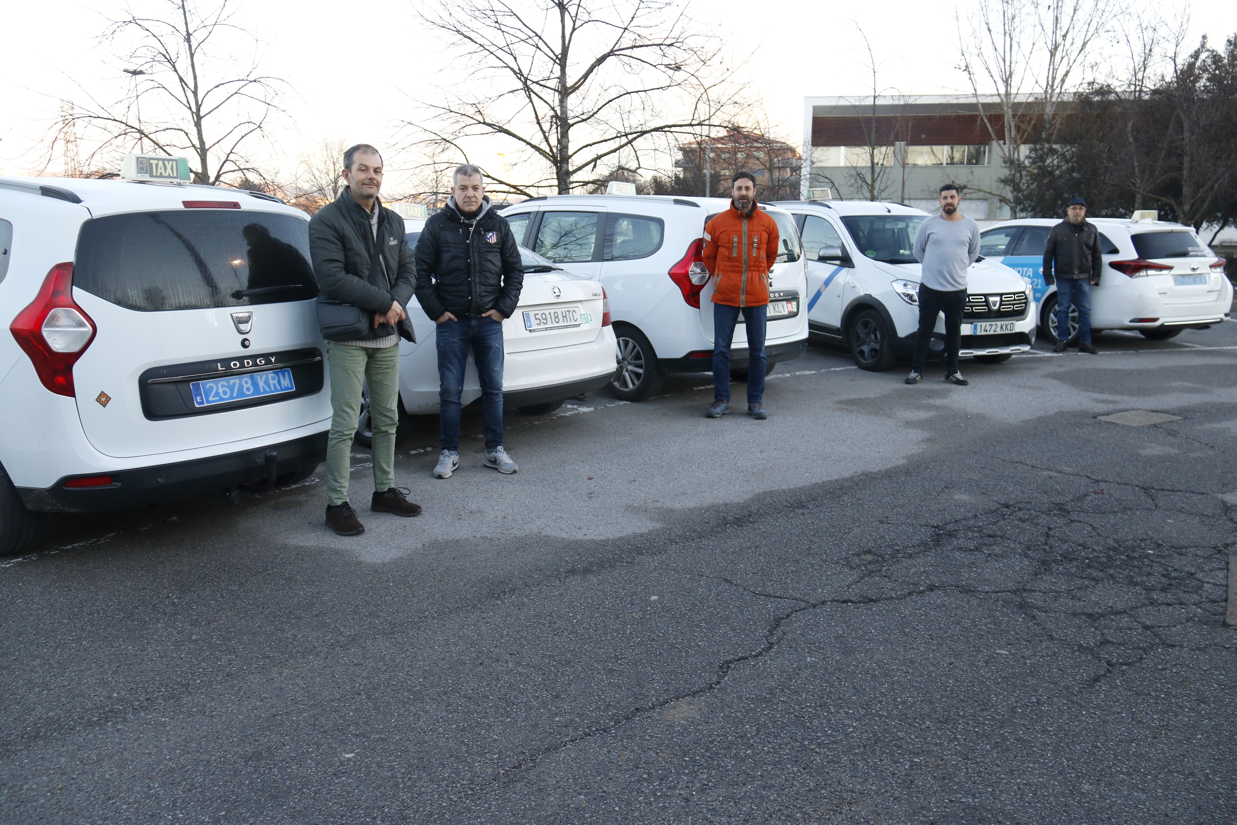
[[[353,437],[361,414],[361,382],[369,383],[374,428],[374,489],[395,486],[395,430],[400,423],[400,345],[382,349],[327,341],[330,362],[330,437],[327,440],[327,503],[348,501]]]

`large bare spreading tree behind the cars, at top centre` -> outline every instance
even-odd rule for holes
[[[486,172],[516,194],[649,168],[651,140],[689,134],[734,100],[716,41],[670,0],[433,0],[421,16],[464,45],[468,77],[408,125],[458,157],[473,137],[515,142],[513,173]]]

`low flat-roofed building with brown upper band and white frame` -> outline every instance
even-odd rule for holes
[[[940,186],[957,183],[964,214],[1006,219],[997,104],[974,95],[804,98],[800,197],[828,188],[839,200],[876,194],[935,212]]]

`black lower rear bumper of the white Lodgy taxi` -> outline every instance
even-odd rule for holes
[[[26,507],[41,512],[119,510],[184,498],[262,481],[320,464],[327,459],[327,433],[203,459],[125,470],[96,471],[59,479],[51,487],[17,487]],[[110,475],[111,484],[66,487],[73,479]]]

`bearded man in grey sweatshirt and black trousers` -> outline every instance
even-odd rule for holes
[[[966,267],[980,256],[980,225],[960,212],[957,187],[940,188],[940,214],[919,224],[915,260],[923,265],[919,277],[919,334],[907,383],[924,380],[928,343],[936,328],[936,315],[945,313],[945,380],[965,387],[969,381],[957,369],[962,349],[962,307],[966,304]]]

